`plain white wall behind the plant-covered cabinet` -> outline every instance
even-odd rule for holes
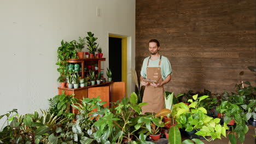
[[[55,63],[62,39],[95,33],[106,69],[108,34],[126,35],[127,73],[135,65],[135,0],[0,0],[0,19],[0,115],[14,108],[21,114],[48,109],[47,99],[59,86]]]

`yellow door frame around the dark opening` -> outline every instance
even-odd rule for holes
[[[120,38],[122,43],[122,81],[125,82],[125,97],[127,96],[127,37],[120,37],[117,35],[108,35],[111,38]]]

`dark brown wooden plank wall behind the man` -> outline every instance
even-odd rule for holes
[[[149,39],[172,64],[165,91],[232,92],[240,80],[255,86],[247,69],[255,66],[255,0],[136,0],[138,73]]]

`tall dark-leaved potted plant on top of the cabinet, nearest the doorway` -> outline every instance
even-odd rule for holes
[[[95,38],[94,37],[94,34],[91,33],[91,32],[88,32],[88,37],[86,37],[86,42],[88,43],[87,46],[88,46],[88,50],[90,52],[89,54],[89,58],[94,58],[94,53],[95,51],[97,50],[97,43],[95,43],[95,41],[98,39],[98,38]]]

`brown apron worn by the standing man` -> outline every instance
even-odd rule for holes
[[[158,67],[148,67],[147,64],[147,79],[156,80],[158,83],[162,82],[161,74],[161,57],[159,60]],[[149,57],[150,59],[150,57]],[[148,63],[149,63],[148,59]],[[164,98],[164,87],[154,87],[151,85],[146,86],[143,94],[142,102],[148,103],[148,105],[142,107],[142,113],[145,112],[159,112],[165,109],[165,98]]]

